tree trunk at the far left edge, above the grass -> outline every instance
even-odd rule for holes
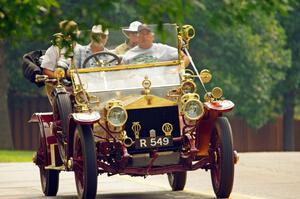
[[[13,149],[7,101],[8,82],[4,42],[0,40],[0,149]]]

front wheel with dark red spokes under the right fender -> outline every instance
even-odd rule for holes
[[[211,136],[210,155],[213,157],[210,173],[214,192],[218,198],[228,198],[234,180],[234,156],[232,130],[226,117],[216,120]]]

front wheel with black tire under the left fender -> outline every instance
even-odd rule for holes
[[[74,133],[73,162],[79,198],[95,198],[98,169],[95,142],[89,125],[78,125]]]

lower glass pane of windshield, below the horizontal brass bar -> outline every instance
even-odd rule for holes
[[[116,71],[80,73],[83,87],[88,92],[127,90],[143,88],[145,77],[151,81],[151,87],[176,86],[180,84],[178,66],[159,66]],[[78,78],[75,80],[78,82]],[[78,82],[79,83],[79,82]]]

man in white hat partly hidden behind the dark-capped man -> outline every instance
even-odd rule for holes
[[[128,28],[122,29],[123,34],[128,38],[128,40],[115,48],[114,52],[117,55],[123,55],[129,49],[131,49],[137,45],[137,41],[138,41],[137,30],[138,30],[139,25],[141,25],[141,24],[142,23],[139,21],[134,21],[134,22],[130,23]]]

